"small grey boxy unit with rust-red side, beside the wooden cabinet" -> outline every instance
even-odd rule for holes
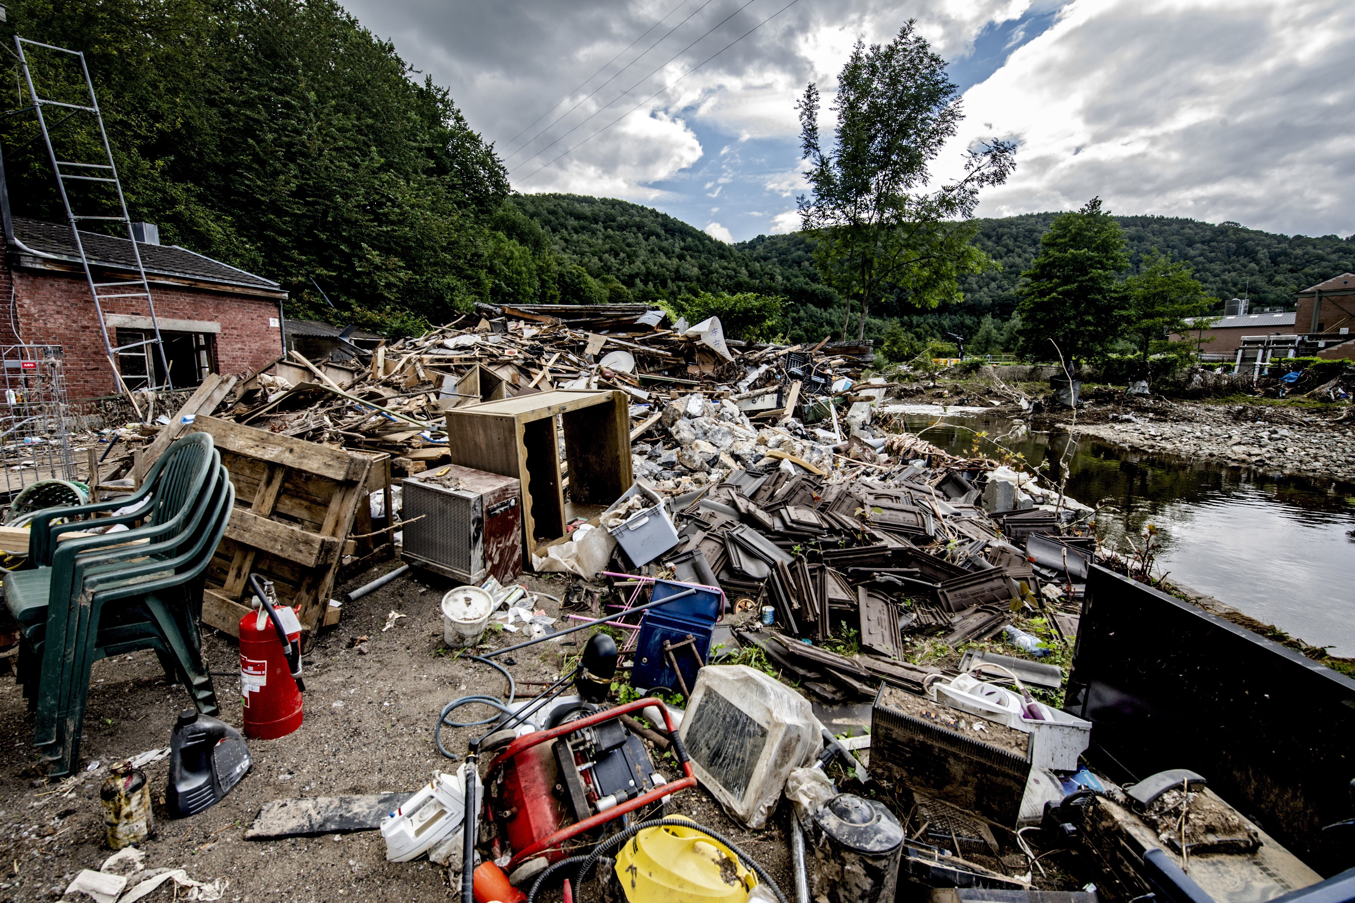
[[[503,585],[522,573],[522,483],[446,464],[402,483],[404,551],[411,565],[462,585]]]

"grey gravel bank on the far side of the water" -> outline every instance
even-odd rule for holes
[[[1098,422],[1064,420],[1079,436],[1146,452],[1213,459],[1266,471],[1341,478],[1355,470],[1355,426],[1331,424],[1295,409],[1177,402],[1125,409]],[[1305,422],[1313,421],[1313,422]]]

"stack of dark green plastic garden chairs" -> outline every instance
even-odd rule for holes
[[[5,604],[20,625],[19,678],[34,700],[34,743],[68,774],[79,757],[89,670],[100,658],[152,648],[171,680],[182,681],[198,711],[218,711],[202,663],[198,581],[225,531],[234,489],[210,436],[188,436],[156,462],[134,510],[99,520],[131,525],[54,550],[68,524],[125,506],[125,501],[49,509],[33,521],[35,570],[5,574]],[[144,504],[142,504],[144,502]]]

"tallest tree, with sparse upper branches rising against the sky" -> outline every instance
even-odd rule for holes
[[[913,24],[885,46],[852,49],[837,77],[831,149],[820,138],[817,85],[797,104],[812,187],[799,198],[801,222],[822,280],[856,302],[858,337],[873,303],[936,307],[959,294],[962,273],[988,265],[970,221],[980,188],[1001,184],[1015,165],[1015,145],[993,141],[967,152],[958,181],[927,188],[928,165],[962,114],[946,61]]]

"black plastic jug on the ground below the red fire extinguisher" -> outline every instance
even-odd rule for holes
[[[169,738],[169,814],[183,818],[215,806],[251,765],[240,731],[194,709],[179,712]]]

